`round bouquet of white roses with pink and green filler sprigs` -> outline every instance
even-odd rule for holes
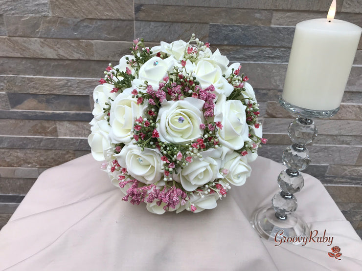
[[[265,143],[259,108],[240,63],[192,35],[109,64],[93,92],[88,142],[124,201],[147,210],[200,212],[250,176]]]

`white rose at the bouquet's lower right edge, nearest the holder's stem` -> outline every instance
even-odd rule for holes
[[[228,173],[224,175],[224,180],[234,186],[244,185],[250,177],[251,167],[248,165],[247,158],[236,151],[226,155],[223,168],[228,170]]]

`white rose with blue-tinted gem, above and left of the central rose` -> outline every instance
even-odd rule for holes
[[[158,83],[168,75],[167,72],[173,69],[176,63],[177,61],[173,57],[166,59],[153,57],[140,67],[138,78],[142,82],[147,81],[151,85],[158,85]]]

